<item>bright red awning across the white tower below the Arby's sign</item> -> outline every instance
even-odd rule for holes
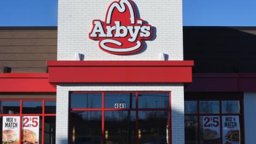
[[[50,83],[190,83],[194,61],[47,61]]]

